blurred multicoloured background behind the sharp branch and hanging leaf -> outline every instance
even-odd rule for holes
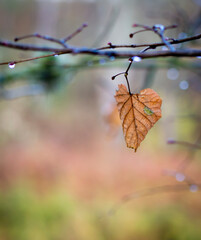
[[[150,32],[130,39],[132,24],[178,24],[168,37],[192,36],[201,30],[201,1],[1,0],[0,21],[7,40],[62,38],[87,22],[69,44],[152,43],[159,39]],[[1,47],[0,62],[40,55]],[[163,117],[137,153],[126,147],[114,108],[125,80],[111,77],[127,65],[63,55],[0,66],[1,240],[201,239],[201,60],[132,67],[132,91],[151,87],[163,99]]]

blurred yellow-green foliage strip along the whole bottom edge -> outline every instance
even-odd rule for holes
[[[1,192],[0,239],[200,239],[201,220],[179,204],[140,211],[124,206],[114,215],[105,212],[107,205],[76,201],[59,191],[39,196],[14,187]]]

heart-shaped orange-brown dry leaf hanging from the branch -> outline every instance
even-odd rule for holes
[[[161,118],[162,100],[150,88],[130,94],[124,84],[119,85],[115,99],[127,147],[136,152],[148,131]]]

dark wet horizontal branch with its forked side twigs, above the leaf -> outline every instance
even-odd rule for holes
[[[189,42],[193,40],[197,40],[201,38],[201,34],[188,37],[188,38],[183,38],[183,39],[169,39],[164,36],[165,30],[175,28],[176,25],[171,25],[171,26],[163,26],[160,24],[154,25],[152,27],[146,26],[146,25],[141,25],[141,24],[134,24],[133,27],[141,27],[142,29],[139,31],[136,31],[134,33],[130,34],[130,37],[133,37],[135,34],[144,32],[144,31],[152,31],[155,34],[157,34],[161,42],[159,43],[150,43],[150,44],[131,44],[131,45],[113,45],[112,43],[108,43],[108,46],[101,47],[101,48],[86,48],[86,47],[73,47],[68,45],[66,42],[71,40],[73,37],[75,37],[78,33],[80,33],[85,27],[87,27],[87,24],[84,23],[82,24],[81,27],[79,27],[75,32],[73,32],[71,35],[62,38],[62,39],[57,39],[53,38],[50,36],[46,35],[41,35],[38,33],[35,34],[29,34],[25,35],[22,37],[16,37],[14,40],[15,42],[11,41],[5,41],[0,39],[0,46],[2,47],[8,47],[8,48],[14,48],[18,50],[23,50],[23,51],[37,51],[37,52],[50,52],[50,54],[46,54],[43,56],[38,56],[35,58],[29,58],[29,59],[23,59],[23,60],[17,60],[17,61],[10,61],[10,62],[2,62],[0,65],[7,65],[7,64],[17,64],[17,63],[22,63],[22,62],[27,62],[27,61],[32,61],[35,59],[39,58],[45,58],[49,56],[54,56],[54,55],[61,55],[61,54],[73,54],[73,55],[96,55],[96,56],[105,56],[105,57],[115,57],[115,58],[132,58],[133,56],[138,56],[142,59],[144,58],[156,58],[156,57],[198,57],[201,56],[201,50],[200,49],[175,49],[172,45],[173,44],[179,44],[179,43],[184,43],[184,42]],[[18,41],[21,41],[23,39],[31,38],[31,37],[36,37],[36,38],[41,38],[46,41],[51,41],[55,42],[59,45],[62,46],[62,48],[55,48],[55,47],[46,47],[46,46],[37,46],[37,45],[32,45],[32,44],[22,44],[22,43],[16,43]],[[145,47],[146,51],[148,49],[156,49],[157,47],[160,46],[166,46],[169,50],[165,51],[152,51],[150,53],[145,52],[144,50],[142,51],[115,51],[114,49],[119,49],[119,48],[141,48]],[[112,49],[112,50],[111,50]]]

